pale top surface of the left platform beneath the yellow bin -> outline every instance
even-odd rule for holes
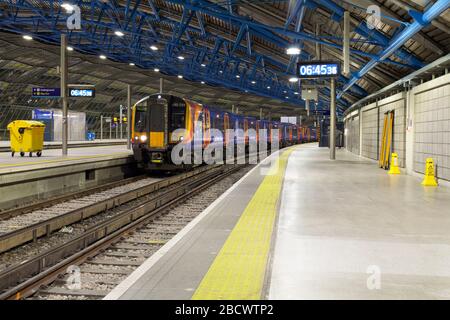
[[[112,146],[96,146],[95,143],[90,143],[86,147],[77,147],[68,149],[68,155],[63,157],[61,149],[44,149],[42,156],[37,157],[33,154],[29,157],[26,154],[21,157],[18,153],[14,157],[11,157],[10,152],[0,152],[0,174],[2,172],[12,172],[24,169],[36,169],[38,167],[51,167],[62,164],[69,164],[75,162],[95,161],[100,158],[117,158],[126,157],[132,154],[132,151],[127,149],[124,145],[112,145]]]

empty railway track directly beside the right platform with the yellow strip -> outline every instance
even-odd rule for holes
[[[178,233],[217,195],[197,198],[196,210],[177,210],[180,203],[236,173],[242,166],[203,168],[157,195],[88,228],[70,241],[51,248],[0,272],[0,299],[20,299],[34,295],[98,299],[131,273],[146,258]],[[228,186],[229,187],[229,186]],[[225,191],[225,188],[223,191]],[[195,197],[194,197],[195,198]],[[198,210],[197,210],[198,211]],[[68,290],[61,279],[69,267],[81,265],[87,288]],[[55,281],[56,280],[56,281]],[[53,283],[51,287],[42,287]],[[92,288],[89,287],[92,284]]]

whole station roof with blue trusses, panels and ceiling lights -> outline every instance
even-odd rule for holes
[[[73,12],[63,3],[81,8],[81,30],[68,31],[67,19]],[[374,5],[380,9],[379,21],[370,20],[368,11]],[[342,60],[343,15],[349,11],[353,74],[338,78],[342,113],[450,51],[450,14],[441,10],[430,24],[402,39],[403,45],[384,61],[380,57],[425,17],[421,14],[439,5],[448,9],[447,0],[0,1],[0,28],[39,40],[31,45],[12,34],[0,35],[4,44],[0,80],[17,86],[44,84],[36,79],[57,85],[58,48],[51,45],[59,44],[60,34],[66,33],[75,49],[70,54],[69,71],[74,74],[70,82],[95,82],[102,88],[88,108],[107,108],[107,103],[121,100],[125,90],[121,83],[137,85],[138,93],[158,91],[162,75],[169,91],[219,105],[245,101],[251,112],[259,112],[259,106],[273,107],[280,114],[299,112],[304,106],[302,88],[317,86],[316,108],[328,109],[327,82],[288,80],[296,74],[297,61]],[[30,46],[39,50],[24,50]],[[301,54],[287,55],[290,46],[301,48]],[[374,67],[360,72],[371,60]],[[45,70],[46,66],[52,69]],[[12,74],[21,77],[11,79]]]

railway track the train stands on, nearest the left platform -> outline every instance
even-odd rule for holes
[[[0,212],[0,253],[52,232],[158,191],[206,170],[198,168],[165,179],[132,178],[124,183],[50,199]]]

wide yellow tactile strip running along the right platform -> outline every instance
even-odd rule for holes
[[[248,203],[195,291],[194,300],[262,298],[264,276],[289,155],[282,153]]]

